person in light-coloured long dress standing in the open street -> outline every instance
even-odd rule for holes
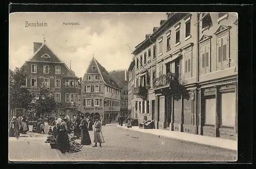
[[[93,118],[95,119],[94,139],[93,139],[93,142],[95,142],[95,145],[93,147],[97,147],[97,142],[99,143],[99,147],[101,147],[101,143],[104,143],[104,137],[103,137],[102,131],[101,131],[101,123],[100,123],[99,117],[97,115],[95,115]]]

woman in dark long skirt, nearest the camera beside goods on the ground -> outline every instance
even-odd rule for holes
[[[60,129],[57,136],[58,148],[61,151],[61,153],[70,151],[70,142],[66,122],[67,119],[63,119],[63,122],[60,124]]]

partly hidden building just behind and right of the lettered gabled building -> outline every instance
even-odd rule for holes
[[[110,76],[117,83],[121,89],[120,96],[120,113],[124,116],[130,115],[128,112],[128,81],[126,70],[113,70],[110,71]]]

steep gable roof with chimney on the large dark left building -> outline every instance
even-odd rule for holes
[[[50,49],[50,47],[46,45],[46,43],[39,43],[39,42],[35,42],[35,43],[37,45],[41,44],[41,46],[40,47],[37,46],[38,49],[34,52],[32,57],[28,61],[59,62],[61,64],[64,64],[65,67],[68,69],[68,74],[65,77],[71,77],[71,78],[78,79],[78,77],[76,77],[74,71],[71,70],[64,62],[62,62],[60,60],[60,58],[58,58],[58,56],[56,54],[54,54],[54,52]],[[25,62],[25,64],[26,64],[26,62]]]

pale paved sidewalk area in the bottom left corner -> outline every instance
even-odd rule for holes
[[[67,161],[59,150],[45,143],[46,137],[9,137],[9,161]]]

